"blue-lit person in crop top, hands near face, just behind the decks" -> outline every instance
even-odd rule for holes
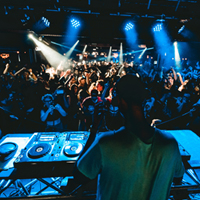
[[[45,94],[42,97],[44,107],[40,112],[41,121],[46,122],[45,131],[63,131],[61,117],[67,113],[60,104],[54,105],[54,98],[51,94]]]

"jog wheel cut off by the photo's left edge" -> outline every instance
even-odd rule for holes
[[[6,161],[12,158],[18,149],[18,145],[13,142],[6,142],[0,145],[0,160]]]

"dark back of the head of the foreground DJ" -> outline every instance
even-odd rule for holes
[[[146,97],[145,85],[135,75],[128,74],[117,81],[116,91],[119,98],[128,104],[142,105]]]

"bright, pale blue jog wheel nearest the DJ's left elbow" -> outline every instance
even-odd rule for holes
[[[64,148],[64,154],[68,157],[75,157],[83,150],[83,145],[79,142],[71,142]]]

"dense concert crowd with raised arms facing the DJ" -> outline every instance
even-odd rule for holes
[[[124,117],[115,84],[129,73],[145,85],[143,108],[149,124],[190,129],[200,135],[199,62],[181,70],[148,62],[140,66],[133,62],[81,65],[75,61],[63,70],[49,64],[19,68],[9,63],[0,66],[1,137],[17,132],[89,130],[95,108],[104,116],[99,130],[117,130],[124,125]]]

